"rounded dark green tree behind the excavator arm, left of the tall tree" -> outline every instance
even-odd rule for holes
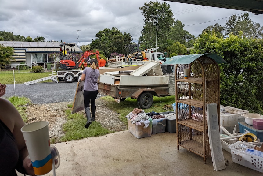
[[[92,40],[90,48],[100,49],[104,52],[106,57],[110,57],[113,52],[124,53],[124,46],[132,43],[132,36],[130,33],[124,32],[122,34],[118,28],[105,28],[96,34],[96,39]]]

